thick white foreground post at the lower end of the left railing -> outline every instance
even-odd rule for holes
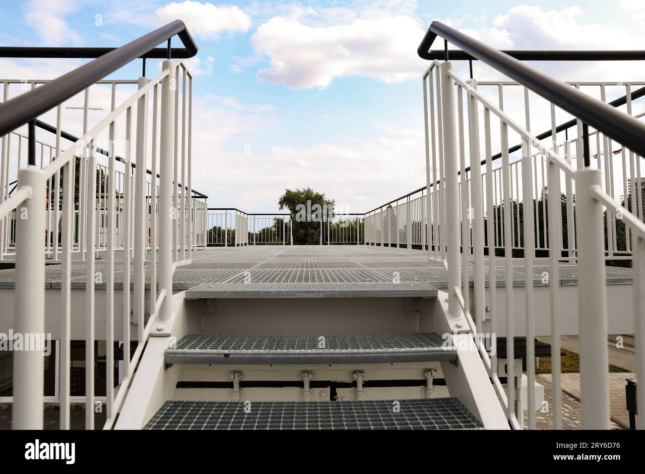
[[[35,166],[18,170],[18,183],[31,190],[17,208],[15,253],[15,320],[14,333],[45,333],[45,181]],[[44,341],[43,341],[44,342]],[[14,351],[14,430],[43,429],[43,348]]]

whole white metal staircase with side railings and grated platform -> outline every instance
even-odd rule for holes
[[[170,47],[174,35],[186,48]],[[437,35],[446,40],[444,62],[430,51]],[[166,41],[167,48],[155,48]],[[448,41],[462,48],[455,58],[483,61],[516,81],[510,84],[524,92],[524,125],[503,110],[504,84],[497,84],[496,104],[482,94],[485,83],[455,74]],[[512,57],[533,57],[526,52],[505,54],[435,22],[419,47],[419,55],[432,60],[422,75],[426,187],[417,191],[425,194],[390,202],[362,220],[356,214],[326,217],[321,244],[297,248],[293,222],[284,215],[234,210],[233,219],[224,210],[215,215],[217,232],[210,232],[206,204],[191,187],[192,76],[171,59],[196,51],[183,23],[175,21],[122,48],[74,50],[97,59],[42,86],[35,81],[32,91],[5,97],[0,105],[0,181],[6,181],[0,193],[0,259],[15,262],[15,284],[0,288],[0,297],[13,291],[15,331],[43,333],[47,324],[59,335],[61,428],[69,428],[68,368],[76,326],[83,327],[88,366],[94,365],[95,341],[106,342],[107,367],[114,366],[115,339],[123,341],[118,384],[114,371],[107,371],[107,430],[521,429],[524,401],[528,428],[535,428],[532,342],[536,327],[548,327],[556,367],[553,427],[560,428],[558,338],[566,318],[575,320],[581,335],[583,427],[608,428],[605,264],[631,261],[631,328],[638,375],[645,379],[645,224],[627,209],[627,199],[624,205],[615,199],[608,178],[603,188],[600,168],[590,166],[590,137],[599,143],[598,163],[601,156],[607,163],[605,176],[613,172],[612,141],[620,144],[622,157],[628,150],[640,163],[645,126],[630,116],[631,109],[625,114],[611,106],[631,106],[638,94],[631,95],[628,86],[624,103],[602,103],[576,84],[555,81]],[[45,52],[34,48],[28,54]],[[148,57],[166,58],[161,73],[130,81],[137,92],[121,104],[117,84],[109,82],[111,110],[90,127],[90,86]],[[530,132],[529,91],[549,101],[550,134]],[[61,139],[74,135],[62,130],[62,104],[79,92],[83,133],[63,146]],[[42,155],[46,145],[36,140],[36,119],[52,108],[52,157],[37,166],[35,146],[41,143]],[[556,108],[573,116],[569,126],[557,125]],[[23,126],[28,165],[21,167],[18,159],[14,183],[8,148],[11,133]],[[575,139],[567,135],[559,143],[559,133],[573,126]],[[119,133],[127,143],[124,158],[114,149]],[[509,145],[510,133],[519,135],[521,146]],[[104,135],[107,150],[98,146]],[[551,144],[544,143],[548,138]],[[499,153],[493,155],[498,139]],[[575,166],[570,155],[560,154],[570,146],[577,150]],[[117,164],[123,167],[117,170]],[[76,166],[79,183],[65,180]],[[110,185],[104,186],[103,176]],[[15,190],[6,186],[10,181]],[[570,198],[566,247],[559,199],[545,198],[547,189],[561,195],[561,184]],[[50,203],[54,186],[57,204]],[[527,204],[521,212],[520,200]],[[619,214],[631,236],[624,250],[614,238]],[[604,215],[611,222],[607,247]],[[58,228],[52,222],[59,216]],[[103,217],[106,225],[93,225]],[[205,249],[208,243],[222,248]],[[195,257],[198,248],[203,253]],[[46,258],[60,264],[60,271],[46,271]],[[563,264],[567,271],[575,266],[569,280],[575,280],[577,306],[567,311]],[[402,278],[401,269],[409,270]],[[540,276],[545,271],[546,282]],[[97,281],[97,273],[104,280]],[[537,311],[536,301],[549,311]],[[59,311],[54,322],[46,318],[46,304]],[[495,352],[502,332],[504,359]],[[505,373],[516,362],[518,336],[529,341],[522,346],[526,400],[522,369]],[[87,372],[94,387],[94,372]],[[42,428],[42,354],[15,352],[12,373],[14,428]],[[86,428],[92,429],[92,391],[85,403]],[[645,390],[639,391],[639,406],[645,406]]]

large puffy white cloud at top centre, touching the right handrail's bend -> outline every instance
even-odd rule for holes
[[[251,43],[255,54],[270,58],[270,68],[258,74],[264,81],[310,88],[359,75],[389,84],[419,77],[424,61],[415,50],[423,34],[415,19],[404,16],[333,26],[274,17],[257,28]]]

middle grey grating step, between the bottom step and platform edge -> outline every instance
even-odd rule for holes
[[[346,364],[455,360],[437,333],[368,335],[186,335],[166,364]]]

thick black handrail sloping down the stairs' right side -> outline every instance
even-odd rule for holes
[[[597,101],[570,85],[557,81],[510,55],[495,50],[495,48],[464,35],[439,21],[433,21],[428,28],[428,32],[417,50],[419,56],[424,57],[424,50],[428,51],[424,48],[426,46],[429,48],[437,35],[502,74],[515,79],[562,110],[578,117],[583,123],[593,126],[604,135],[626,146],[637,155],[645,156],[645,140],[643,139],[645,125],[633,117],[623,114],[610,105]]]

